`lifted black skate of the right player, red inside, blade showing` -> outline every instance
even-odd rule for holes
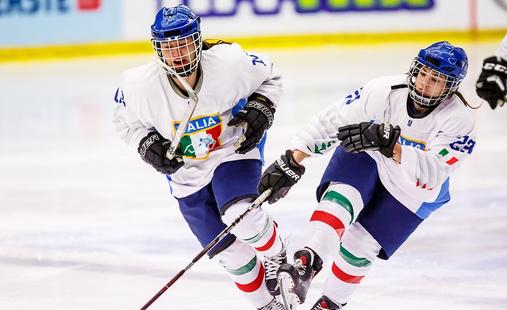
[[[321,269],[322,260],[308,248],[299,249],[294,253],[294,264],[284,263],[280,266],[277,278],[283,301],[288,309],[305,302],[310,283]]]

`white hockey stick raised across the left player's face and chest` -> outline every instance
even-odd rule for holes
[[[172,75],[174,75],[178,81],[180,81],[185,87],[185,90],[187,91],[187,94],[189,95],[189,106],[187,107],[187,110],[185,111],[185,114],[183,114],[182,121],[179,122],[178,130],[176,130],[176,134],[174,135],[174,139],[171,142],[171,145],[169,146],[169,149],[167,150],[167,153],[165,154],[165,157],[168,159],[173,159],[174,154],[176,154],[176,149],[178,148],[179,142],[182,140],[183,134],[185,133],[185,129],[187,129],[187,125],[189,124],[190,118],[192,117],[192,114],[194,113],[195,107],[197,106],[197,95],[195,91],[190,87],[190,85],[183,79],[183,77],[179,76],[179,74],[176,73],[171,67],[169,67],[166,63],[161,61],[159,58],[151,56],[153,60],[155,60],[159,65],[167,69],[167,71],[171,72]]]

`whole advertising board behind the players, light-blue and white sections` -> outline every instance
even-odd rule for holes
[[[507,31],[507,0],[0,0],[0,49],[147,41],[178,4],[205,38]]]

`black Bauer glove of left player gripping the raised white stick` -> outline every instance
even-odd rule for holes
[[[176,154],[173,159],[167,159],[165,154],[171,145],[171,141],[164,139],[158,132],[150,132],[142,138],[137,148],[142,160],[152,165],[163,174],[176,172],[185,163],[181,154]]]

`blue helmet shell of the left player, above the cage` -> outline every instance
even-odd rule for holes
[[[201,30],[201,19],[185,5],[162,8],[151,26],[152,36],[157,41],[185,37]]]

